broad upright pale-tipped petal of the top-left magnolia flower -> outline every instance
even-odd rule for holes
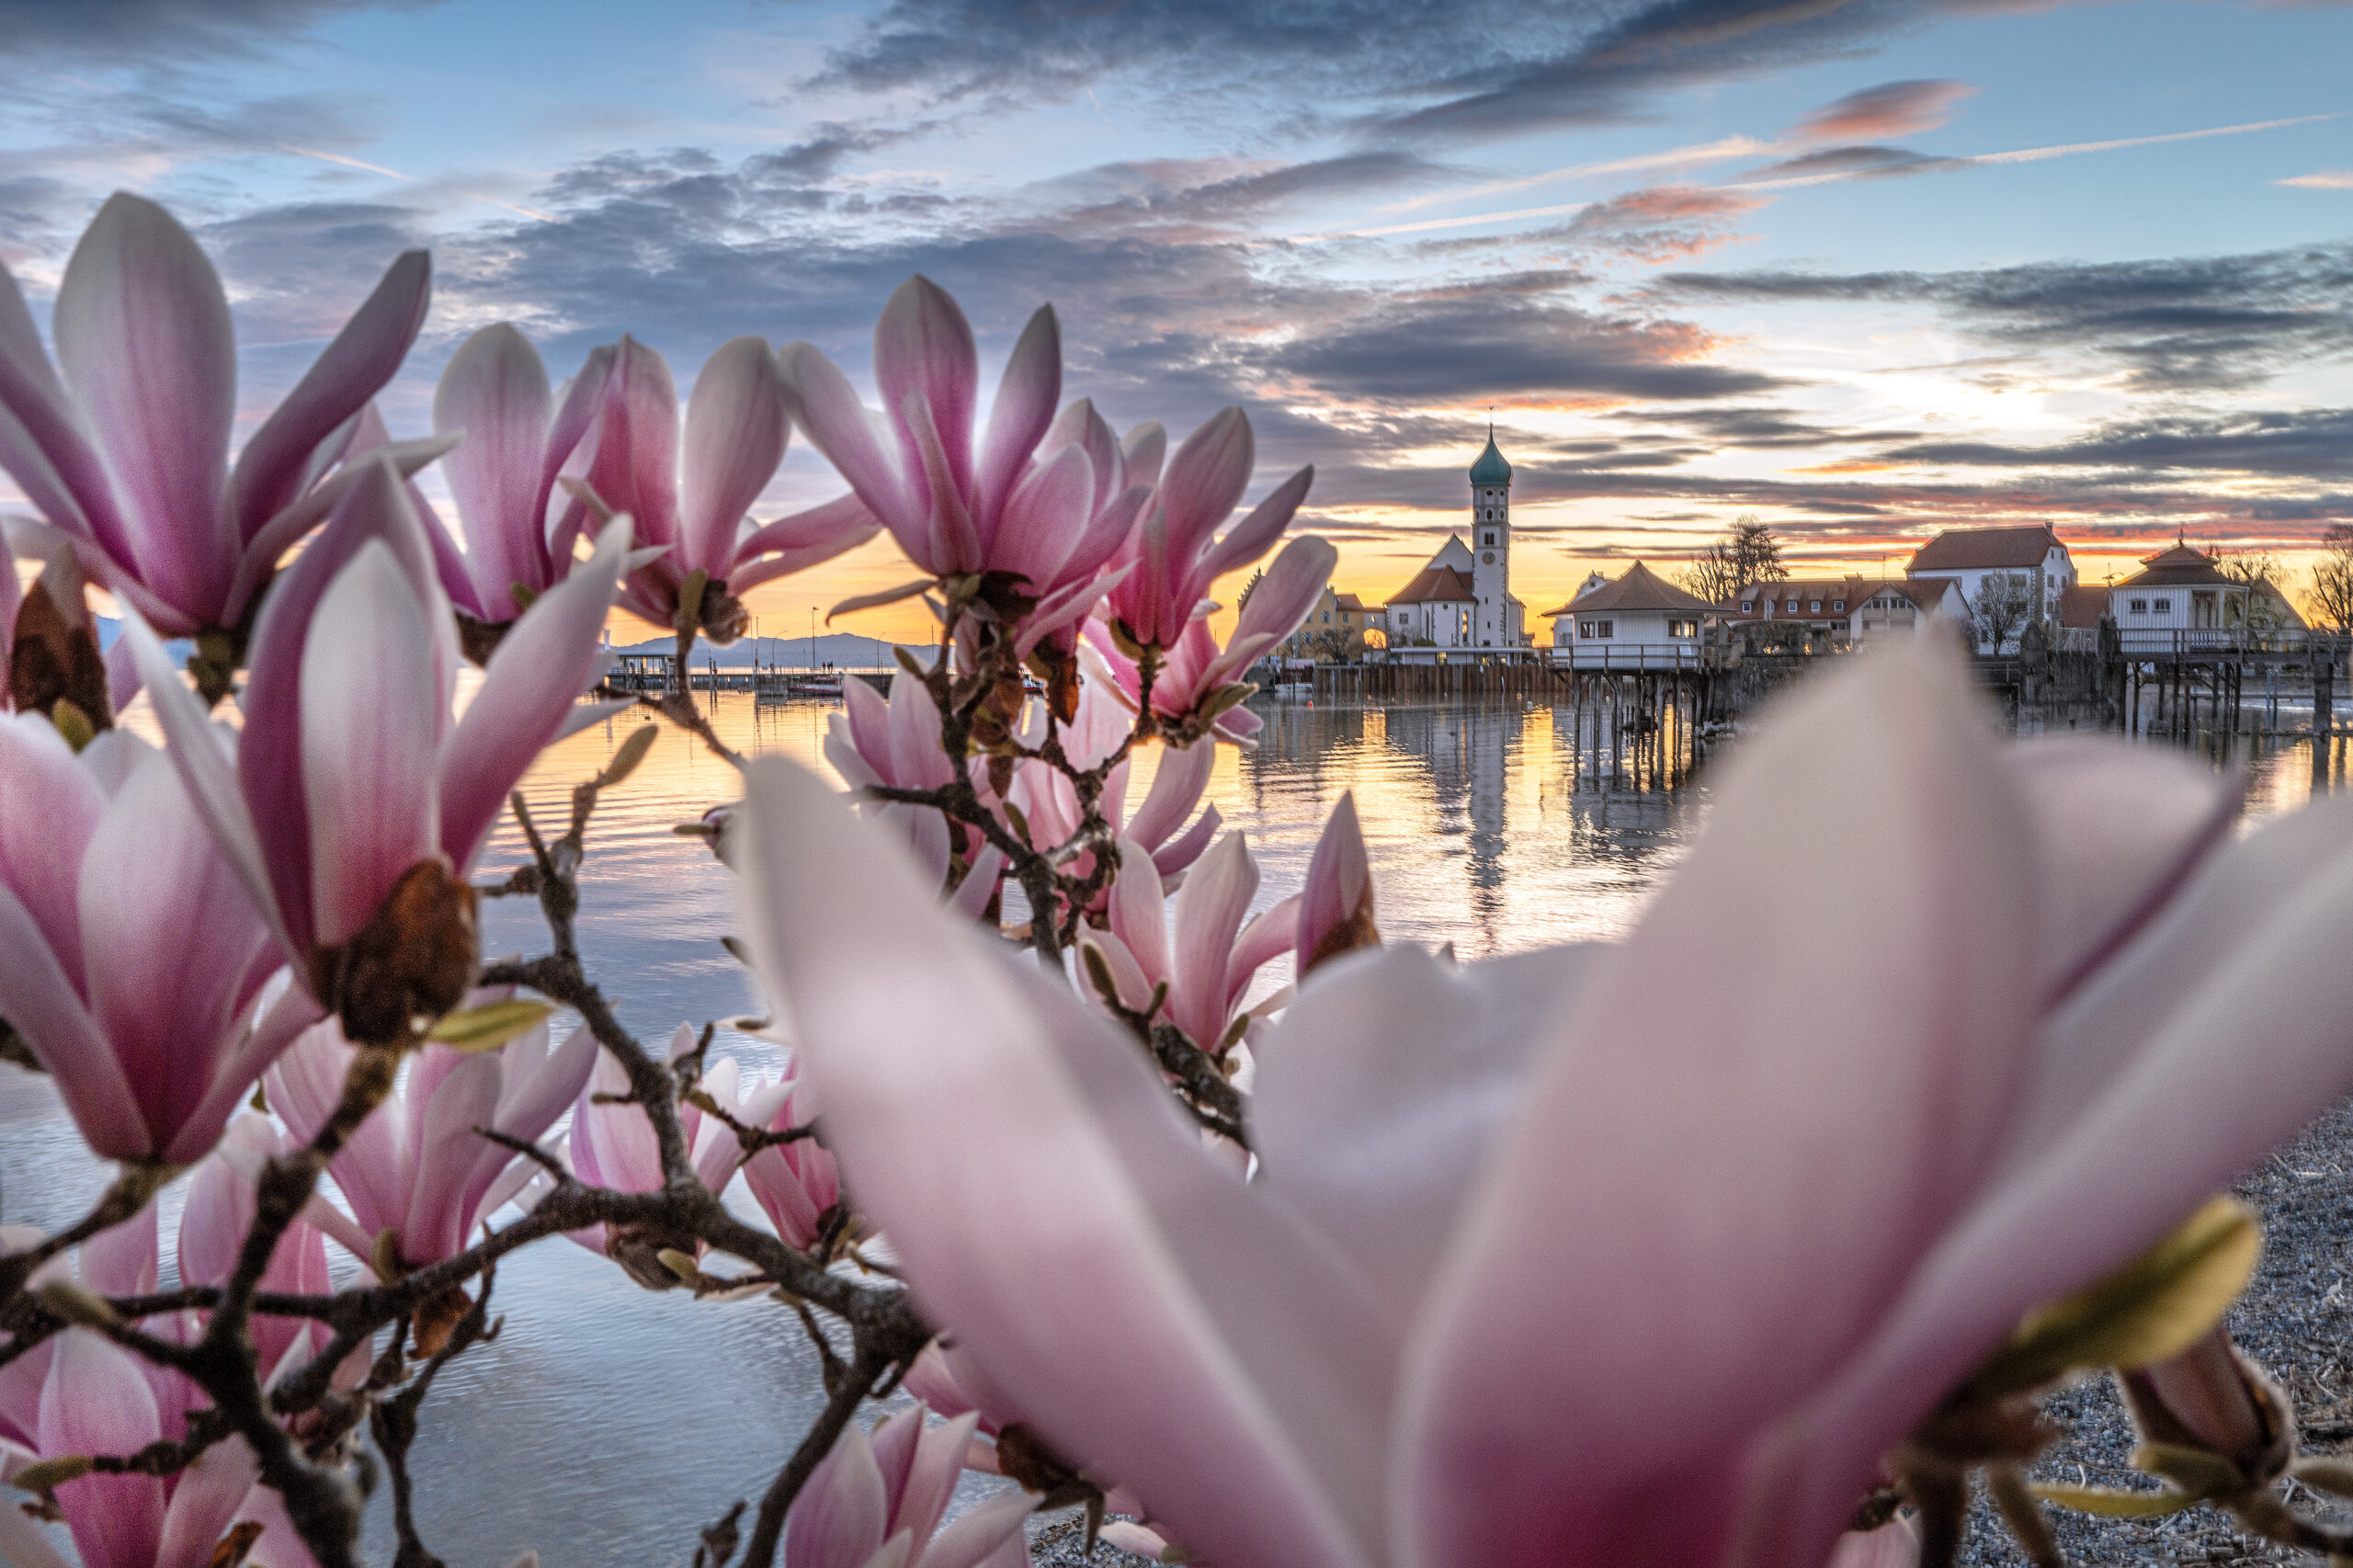
[[[172,214],[115,191],[66,261],[52,334],[129,501],[141,579],[200,617],[228,589],[231,560],[221,497],[238,339],[221,278]]]

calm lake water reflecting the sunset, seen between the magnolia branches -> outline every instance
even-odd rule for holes
[[[824,768],[831,706],[748,695],[704,702],[729,744]],[[1595,784],[1591,756],[1574,753],[1567,709],[1261,711],[1259,751],[1221,749],[1207,793],[1249,836],[1259,904],[1299,888],[1325,815],[1353,789],[1384,935],[1452,942],[1464,958],[1624,932],[1706,815],[1706,765],[1673,789]],[[525,782],[539,819],[560,822],[572,784],[598,772],[638,723],[548,751]],[[2318,753],[2304,739],[2235,742],[2219,760],[2249,770],[2252,810],[2289,810],[2344,784],[2346,742]],[[1139,765],[1132,798],[1144,775]],[[755,1008],[720,946],[732,928],[727,873],[701,841],[671,831],[732,793],[725,763],[666,730],[591,829],[581,946],[640,1038]],[[520,857],[515,829],[501,826],[480,881]],[[546,946],[527,902],[485,902],[482,925],[489,954]],[[1280,979],[1271,965],[1261,984]],[[774,1067],[760,1041],[713,1048],[727,1052]],[[0,1067],[0,1217],[68,1224],[104,1182],[47,1081]],[[176,1191],[167,1227],[172,1208]],[[736,1497],[758,1500],[821,1403],[798,1321],[762,1300],[652,1295],[602,1257],[546,1241],[501,1264],[494,1304],[506,1333],[447,1368],[414,1453],[426,1542],[454,1566],[492,1568],[525,1547],[558,1566],[685,1563],[699,1526]],[[391,1556],[381,1497],[369,1549]]]

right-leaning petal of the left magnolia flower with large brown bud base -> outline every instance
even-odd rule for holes
[[[482,852],[515,779],[572,718],[602,655],[626,549],[628,523],[607,523],[595,556],[541,593],[489,655],[482,690],[440,756],[440,850],[461,873]]]

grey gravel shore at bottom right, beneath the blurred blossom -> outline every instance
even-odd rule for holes
[[[2231,1335],[2271,1368],[2297,1401],[2304,1453],[2353,1448],[2353,1102],[2337,1107],[2266,1158],[2238,1184],[2264,1215],[2264,1264],[2231,1309]],[[2035,1464],[2047,1481],[2134,1486],[2146,1476],[2125,1464],[2132,1424],[2106,1380],[2082,1382],[2045,1401],[2068,1431]],[[2297,1493],[2294,1507],[2353,1523],[2353,1509]],[[2085,1568],[2224,1568],[2226,1563],[2318,1563],[2287,1547],[2245,1540],[2226,1514],[2195,1509],[2172,1519],[2087,1519],[2052,1511],[2059,1544]],[[1146,1559],[1113,1547],[1080,1556],[1075,1514],[1040,1521],[1031,1554],[1040,1568],[1144,1568]],[[1981,1502],[1960,1561],[1967,1568],[2024,1568],[2026,1556]]]

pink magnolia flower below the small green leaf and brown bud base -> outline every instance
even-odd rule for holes
[[[475,991],[468,1003],[504,996]],[[264,1095],[294,1140],[308,1142],[334,1114],[355,1055],[336,1022],[325,1019],[264,1076]],[[391,1236],[405,1269],[466,1250],[482,1222],[539,1170],[475,1128],[539,1142],[588,1083],[595,1055],[595,1036],[586,1029],[558,1045],[546,1024],[496,1050],[426,1045],[414,1052],[391,1099],[327,1163],[351,1220],[329,1210],[322,1224],[362,1260],[374,1260],[379,1238]]]

